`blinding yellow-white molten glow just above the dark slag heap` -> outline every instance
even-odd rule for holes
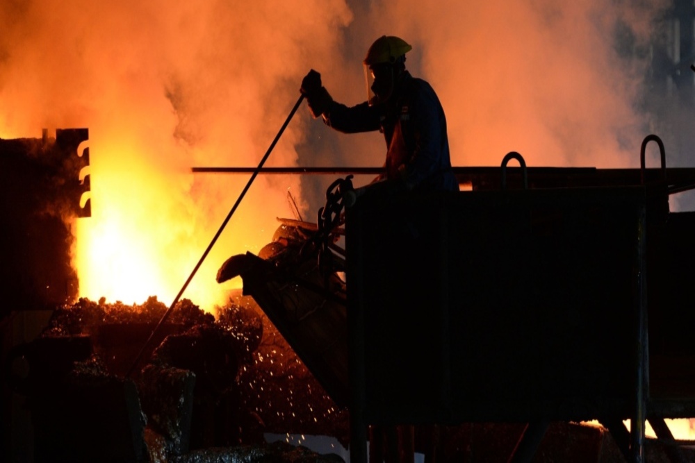
[[[106,146],[95,148],[98,143],[90,140],[92,217],[76,221],[80,297],[129,304],[157,296],[169,304],[219,226],[213,224],[218,212],[198,210],[189,193],[190,171],[167,171],[142,158],[109,153]],[[243,229],[234,231],[234,242],[248,242],[239,236]],[[182,298],[206,311],[227,302],[229,289],[242,283],[239,278],[225,285],[215,281],[220,264],[234,251],[230,246],[220,239]]]

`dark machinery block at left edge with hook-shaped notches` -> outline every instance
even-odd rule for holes
[[[56,137],[0,139],[0,319],[19,310],[44,310],[78,294],[71,265],[69,219],[89,217],[86,128],[56,130]],[[82,148],[81,150],[79,150]],[[85,195],[86,196],[86,195]]]

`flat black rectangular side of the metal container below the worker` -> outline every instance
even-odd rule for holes
[[[644,414],[645,225],[641,187],[362,196],[346,220],[351,413]]]

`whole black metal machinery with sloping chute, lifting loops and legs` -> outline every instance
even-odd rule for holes
[[[669,210],[695,169],[667,169],[655,135],[640,155],[640,169],[527,168],[509,153],[455,169],[471,187],[455,193],[352,190],[348,177],[327,194],[338,228],[322,230],[325,210],[316,235],[304,228],[304,270],[246,255],[233,273],[350,407],[355,461],[372,424],[530,423],[516,455],[530,461],[550,421],[591,419],[643,461],[647,420],[672,441],[663,419],[695,416],[695,217]],[[345,287],[322,283],[336,270]]]

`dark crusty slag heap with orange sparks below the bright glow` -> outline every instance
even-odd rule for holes
[[[252,298],[230,298],[217,319],[183,299],[133,369],[166,310],[156,297],[142,305],[81,298],[14,353],[28,362],[30,373],[17,374],[14,386],[31,398],[38,461],[206,461],[243,449],[249,458],[316,461],[291,446],[268,446],[268,432],[332,435],[347,445],[347,411]]]

